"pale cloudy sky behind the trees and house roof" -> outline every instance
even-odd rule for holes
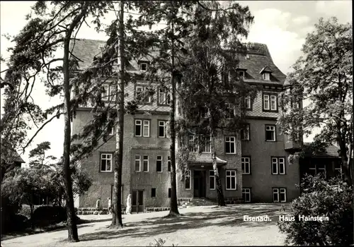
[[[238,1],[242,6],[249,6],[254,16],[254,23],[249,31],[248,42],[259,42],[267,44],[273,61],[283,73],[290,72],[290,66],[302,55],[302,44],[304,44],[307,33],[314,30],[314,24],[319,18],[330,18],[336,16],[339,23],[352,22],[352,1]],[[11,47],[2,35],[16,35],[25,25],[25,15],[30,12],[33,1],[0,1],[0,48],[1,55],[6,59],[9,53],[6,51]],[[110,23],[108,16],[106,23]],[[88,38],[92,40],[105,40],[105,35],[83,25],[76,36],[77,38]],[[1,64],[1,71],[5,65]],[[3,75],[1,75],[3,76]],[[1,89],[1,95],[2,95]],[[43,88],[36,88],[33,94],[35,102],[47,109],[61,101],[59,98],[50,98],[45,95]],[[2,104],[2,97],[1,97]],[[1,106],[2,112],[2,106]],[[314,133],[318,130],[314,130]],[[29,131],[30,138],[35,130]],[[48,155],[60,157],[63,148],[64,121],[55,119],[42,129],[40,134],[28,150],[21,155],[28,162],[28,152],[36,144],[43,141],[52,143],[52,150]],[[311,141],[314,135],[304,138],[304,141]]]

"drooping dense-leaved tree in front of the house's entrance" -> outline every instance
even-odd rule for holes
[[[256,88],[239,78],[239,56],[245,54],[240,38],[247,37],[253,16],[248,7],[230,4],[227,10],[217,1],[203,1],[193,12],[193,26],[185,38],[185,55],[181,69],[181,119],[179,168],[184,171],[188,147],[184,135],[195,135],[195,145],[210,139],[211,158],[217,179],[219,205],[225,205],[219,178],[215,138],[221,133],[235,133],[244,127],[244,98],[256,97]],[[200,150],[202,152],[202,150]]]

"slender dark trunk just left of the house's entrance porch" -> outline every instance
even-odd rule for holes
[[[173,23],[172,23],[173,33]],[[177,186],[176,186],[176,129],[175,129],[175,112],[176,112],[176,81],[175,81],[175,51],[173,44],[173,37],[171,38],[171,109],[170,109],[170,155],[171,155],[171,199],[170,199],[170,212],[168,216],[179,215],[177,205]]]

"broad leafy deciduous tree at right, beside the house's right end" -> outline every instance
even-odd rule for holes
[[[282,93],[279,121],[292,140],[309,135],[317,143],[336,143],[346,181],[351,183],[353,157],[353,31],[350,23],[321,18],[309,33],[304,53],[287,76],[288,89]],[[301,102],[304,100],[304,107]],[[307,105],[305,103],[308,102]],[[299,105],[300,103],[300,105]]]

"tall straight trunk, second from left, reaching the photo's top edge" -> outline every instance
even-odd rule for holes
[[[117,83],[117,133],[115,133],[115,164],[114,164],[114,193],[112,224],[113,228],[123,227],[122,223],[122,162],[123,162],[123,133],[124,133],[124,1],[120,1],[119,16],[119,47],[118,47],[118,83]]]

